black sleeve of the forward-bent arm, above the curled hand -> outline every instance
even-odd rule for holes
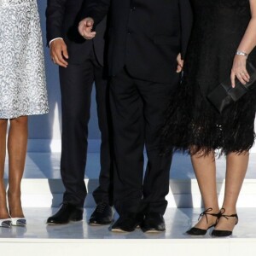
[[[108,14],[110,4],[111,0],[85,0],[81,11],[81,20],[90,17],[94,20],[96,26]]]

